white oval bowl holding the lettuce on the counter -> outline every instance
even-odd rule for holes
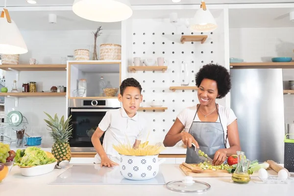
[[[55,161],[54,163],[46,164],[46,165],[33,166],[30,168],[21,168],[21,172],[22,172],[22,175],[24,176],[42,175],[45,173],[52,172],[56,164],[57,164],[57,161]]]

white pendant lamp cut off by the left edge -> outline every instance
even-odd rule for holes
[[[6,1],[4,7],[6,7]],[[28,51],[21,32],[5,8],[1,12],[0,27],[1,54],[24,54]]]

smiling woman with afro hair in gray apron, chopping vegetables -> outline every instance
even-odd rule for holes
[[[203,66],[196,74],[199,104],[185,108],[176,118],[163,144],[173,147],[179,141],[187,146],[186,163],[202,162],[192,143],[221,165],[228,156],[241,150],[237,118],[232,109],[216,103],[231,89],[230,74],[215,64]],[[185,131],[182,132],[182,130]]]

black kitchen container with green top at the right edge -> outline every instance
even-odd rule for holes
[[[294,139],[287,139],[288,135],[294,135],[289,133],[285,135],[284,139],[284,168],[289,172],[294,172]]]

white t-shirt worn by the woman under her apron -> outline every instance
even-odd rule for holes
[[[185,126],[185,132],[189,132],[189,129],[193,121],[201,122],[199,120],[198,113],[195,116],[196,110],[197,110],[197,105],[192,107],[187,107],[178,114],[177,118]],[[216,122],[220,122],[220,118],[221,118],[221,125],[224,131],[224,141],[225,141],[224,143],[225,143],[225,146],[229,148],[230,145],[227,138],[227,126],[233,123],[237,119],[237,117],[235,116],[235,113],[233,112],[231,108],[223,107],[220,104],[219,104],[219,114],[220,116]],[[194,116],[195,116],[195,119],[194,119]]]

